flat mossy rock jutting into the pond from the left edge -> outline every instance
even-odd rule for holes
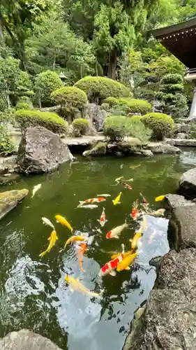
[[[19,204],[24,197],[28,195],[29,191],[24,188],[23,190],[11,190],[0,193],[0,220],[13,208]],[[0,347],[1,349],[1,347]]]

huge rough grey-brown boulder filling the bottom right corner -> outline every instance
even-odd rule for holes
[[[196,349],[196,250],[169,251],[124,350]],[[130,342],[131,339],[131,342]]]

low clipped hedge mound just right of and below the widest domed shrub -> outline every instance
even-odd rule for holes
[[[152,111],[152,105],[144,99],[118,99],[118,104],[126,107],[127,113],[145,114]]]

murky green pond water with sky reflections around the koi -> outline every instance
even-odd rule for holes
[[[130,169],[131,165],[141,165]],[[135,200],[146,197],[151,209],[158,209],[154,197],[174,193],[182,172],[196,165],[196,151],[183,148],[178,156],[160,155],[154,158],[97,158],[86,160],[80,156],[53,174],[29,176],[1,190],[28,188],[38,183],[42,187],[31,198],[10,212],[0,223],[0,337],[12,330],[28,328],[44,335],[66,350],[120,350],[130,329],[130,322],[138,307],[149,296],[156,279],[149,260],[165,254],[167,244],[166,218],[147,216],[147,229],[142,237],[140,253],[130,271],[115,277],[100,279],[98,272],[110,260],[110,251],[121,251],[124,243],[130,250],[129,239],[139,227],[130,219]],[[132,191],[115,184],[115,179],[133,178]],[[121,204],[112,200],[122,190]],[[79,200],[108,193],[106,202],[98,208],[77,209]],[[160,205],[160,204],[159,204]],[[107,223],[100,227],[97,219],[105,207]],[[84,255],[82,272],[78,264],[77,248],[68,246],[67,228],[55,224],[59,240],[42,259],[40,252],[47,247],[50,228],[43,225],[45,216],[53,223],[54,215],[66,216],[74,233],[89,236],[89,250]],[[128,220],[129,227],[120,239],[106,239],[106,233]],[[151,236],[153,234],[153,236]],[[101,299],[91,299],[70,290],[65,274],[80,279],[84,286],[100,291]]]

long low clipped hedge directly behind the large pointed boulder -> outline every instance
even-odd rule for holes
[[[16,111],[15,118],[22,129],[39,125],[59,134],[68,130],[66,120],[63,120],[56,113],[40,112],[35,109],[20,109]]]

